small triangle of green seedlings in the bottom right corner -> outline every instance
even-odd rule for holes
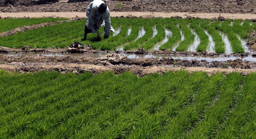
[[[254,112],[250,118],[250,121],[246,126],[242,127],[242,132],[240,134],[241,139],[249,139],[254,138],[256,136],[256,111],[254,108]]]

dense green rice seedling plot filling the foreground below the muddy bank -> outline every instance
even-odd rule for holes
[[[0,138],[252,138],[256,73],[0,70]]]

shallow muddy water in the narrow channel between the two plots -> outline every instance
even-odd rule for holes
[[[71,56],[71,57],[92,57],[92,58],[100,58],[102,56],[107,55],[108,53],[93,53],[93,54],[82,54],[82,53],[67,53],[67,54],[43,54],[43,53],[20,53],[20,54],[10,54],[10,53],[0,53],[3,56],[24,56],[24,55],[33,55],[33,56]],[[256,61],[256,57],[248,56],[248,57],[213,57],[213,56],[168,56],[168,55],[157,55],[157,54],[125,54],[120,53],[118,55],[124,55],[129,59],[139,59],[139,58],[160,58],[160,59],[181,59],[181,60],[206,60],[206,61],[227,61],[227,60],[235,60],[242,59],[246,61]]]

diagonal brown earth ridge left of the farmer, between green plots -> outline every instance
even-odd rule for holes
[[[41,24],[36,24],[36,25],[31,25],[31,26],[17,27],[17,28],[14,28],[14,29],[10,30],[10,31],[0,33],[0,37],[10,36],[10,35],[16,34],[18,32],[26,32],[28,30],[37,29],[37,28],[40,28],[40,27],[48,27],[48,26],[53,26],[55,24],[60,24],[60,23],[64,23],[64,22],[67,23],[67,22],[72,22],[72,21],[75,21],[75,20],[82,20],[82,19],[84,19],[84,18],[76,17],[76,18],[71,18],[69,20],[62,20],[62,21],[56,21],[56,22],[47,22],[47,23],[41,23]]]

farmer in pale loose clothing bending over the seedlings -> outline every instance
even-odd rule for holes
[[[87,8],[85,35],[97,32],[97,41],[100,41],[99,27],[104,27],[104,39],[109,37],[110,31],[115,32],[110,22],[110,11],[106,3],[101,0],[94,0]]]

